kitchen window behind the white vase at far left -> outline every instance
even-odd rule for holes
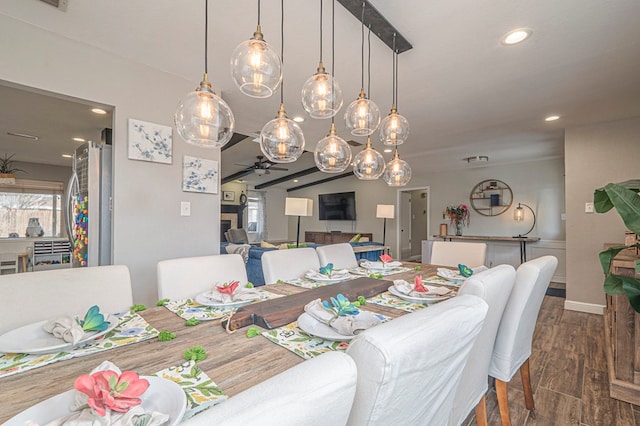
[[[0,237],[24,237],[29,218],[36,217],[47,237],[59,237],[62,226],[60,182],[16,180],[0,185]]]

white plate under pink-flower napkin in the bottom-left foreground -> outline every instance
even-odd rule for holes
[[[140,397],[146,411],[158,411],[171,417],[165,425],[173,426],[182,420],[187,408],[187,395],[171,380],[155,376],[143,376],[149,381],[149,388]],[[55,419],[71,414],[69,408],[74,401],[75,390],[69,390],[46,399],[9,419],[6,425],[47,424]]]

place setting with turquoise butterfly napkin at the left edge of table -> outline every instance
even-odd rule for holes
[[[0,351],[2,351],[0,352],[0,378],[54,362],[142,342],[156,337],[159,333],[137,313],[126,311],[105,317],[103,314],[99,314],[99,309],[95,308],[97,307],[89,309],[87,315],[90,312],[92,315],[89,317],[85,315],[80,326],[85,324],[91,328],[92,325],[101,321],[102,324],[98,325],[98,328],[105,327],[104,330],[85,332],[85,335],[81,336],[76,343],[73,343],[73,339],[78,338],[77,327],[70,324],[68,318],[65,317],[40,321],[34,323],[38,324],[37,327],[35,325],[23,326],[0,336],[0,342],[3,342],[0,344]],[[100,319],[100,315],[102,315],[102,319]],[[76,321],[73,317],[69,318]],[[55,331],[60,337],[49,334],[42,328],[44,325],[47,325],[48,328],[50,326],[52,333]],[[65,327],[68,329],[65,330]],[[12,339],[22,331],[26,331],[27,335],[23,335],[13,342],[7,341],[7,336]],[[73,337],[74,333],[76,337]],[[51,344],[51,339],[54,339],[54,344]],[[20,346],[16,347],[17,345]],[[5,351],[5,349],[7,350]]]

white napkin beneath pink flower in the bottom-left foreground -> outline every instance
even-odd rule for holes
[[[113,364],[111,361],[103,361],[99,366],[91,370],[90,374],[98,371],[112,370],[118,374],[122,374],[122,371]],[[74,411],[72,414],[61,417],[47,423],[45,426],[130,426],[135,425],[137,417],[148,416],[149,420],[144,423],[146,426],[160,426],[169,421],[168,414],[163,414],[158,411],[146,412],[142,405],[131,407],[126,413],[112,412],[107,409],[105,416],[98,416],[93,412],[91,408],[87,408],[87,395],[77,390],[74,390],[75,397],[74,402],[71,404],[70,409]],[[140,421],[140,420],[138,420]]]

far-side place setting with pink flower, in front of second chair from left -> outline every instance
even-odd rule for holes
[[[252,285],[247,287],[248,283],[244,286],[239,284],[238,281],[231,281],[216,285],[193,299],[169,300],[164,307],[185,320],[210,321],[228,315],[231,309],[283,297]]]

